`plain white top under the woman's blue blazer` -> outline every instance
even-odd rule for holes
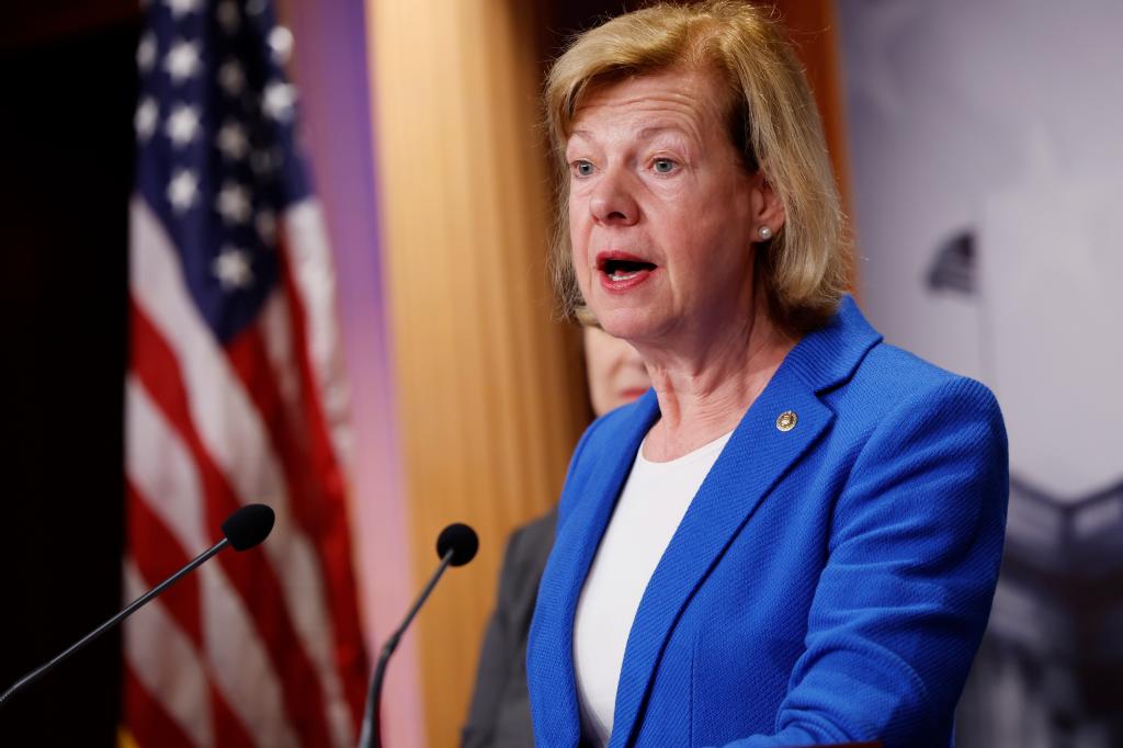
[[[582,732],[593,745],[609,742],[624,647],[647,583],[731,435],[669,463],[645,459],[640,445],[574,620]]]

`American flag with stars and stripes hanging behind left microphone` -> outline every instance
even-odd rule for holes
[[[126,596],[265,502],[276,529],[125,628],[126,740],[354,745],[367,660],[321,216],[266,0],[154,0],[137,51]]]

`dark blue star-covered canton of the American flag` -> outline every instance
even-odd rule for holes
[[[137,51],[137,190],[227,343],[279,281],[277,216],[309,195],[294,144],[292,46],[265,0],[154,0]]]

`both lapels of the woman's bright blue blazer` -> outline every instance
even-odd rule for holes
[[[656,664],[682,609],[757,505],[833,420],[819,393],[849,378],[879,340],[853,299],[847,297],[827,326],[805,336],[788,353],[741,419],[640,601],[624,650],[611,746],[626,746],[634,738]],[[794,412],[797,421],[791,430],[780,431],[776,420],[786,411]],[[605,421],[605,432],[591,441],[596,454],[581,460],[590,465],[590,478],[568,520],[558,528],[555,557],[540,592],[541,620],[536,621],[539,638],[551,644],[551,669],[556,667],[554,673],[564,675],[547,686],[555,690],[544,694],[549,699],[542,700],[547,709],[540,713],[544,723],[539,726],[558,745],[575,745],[579,739],[573,666],[577,600],[636,453],[658,416],[658,401],[654,391],[648,391],[628,411]]]

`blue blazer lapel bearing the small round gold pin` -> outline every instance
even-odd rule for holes
[[[610,746],[636,740],[659,657],[694,591],[772,487],[833,420],[816,393],[849,376],[878,339],[848,298],[830,326],[809,335],[788,354],[741,419],[640,601],[620,672]],[[780,430],[777,419],[788,411],[796,416],[795,426]]]

